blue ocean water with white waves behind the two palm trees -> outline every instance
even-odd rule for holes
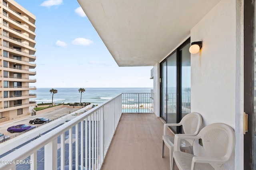
[[[32,93],[36,94],[35,100],[37,104],[51,103],[52,88],[37,88]],[[74,103],[80,102],[81,93],[79,88],[54,88],[58,93],[53,95],[53,102],[55,103]],[[117,96],[120,93],[150,93],[152,88],[84,88],[81,102],[90,102],[92,104],[102,104],[107,100]]]

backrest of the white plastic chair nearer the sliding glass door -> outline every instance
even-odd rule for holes
[[[197,112],[188,113],[180,123],[185,134],[197,135],[202,125],[202,117]]]

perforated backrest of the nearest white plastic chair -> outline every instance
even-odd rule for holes
[[[222,163],[230,160],[236,144],[234,130],[224,123],[213,123],[199,133],[207,156],[222,158]]]

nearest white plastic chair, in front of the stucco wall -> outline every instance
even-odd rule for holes
[[[179,143],[182,139],[202,139],[206,156],[180,151]],[[232,127],[224,123],[213,123],[204,127],[196,136],[175,135],[173,161],[179,170],[214,170],[211,164],[221,167],[230,161],[235,143]]]

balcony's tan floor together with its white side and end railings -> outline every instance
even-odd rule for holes
[[[76,169],[81,165],[90,170],[170,169],[168,150],[164,158],[161,154],[163,123],[151,113],[150,95],[133,94],[135,98],[127,98],[120,94],[89,111],[80,109],[80,116],[44,134],[40,140],[34,139],[38,132],[33,129],[26,137],[34,140],[3,156],[1,160],[14,160],[14,164],[0,164],[0,169],[64,169],[67,165],[70,169],[72,165]],[[129,110],[122,114],[128,108],[127,101],[137,101],[130,105],[137,107],[134,112],[142,105],[141,111],[149,107],[150,112]],[[4,145],[7,151],[13,149],[11,140],[0,144],[0,148]],[[17,162],[21,160],[27,164]]]

